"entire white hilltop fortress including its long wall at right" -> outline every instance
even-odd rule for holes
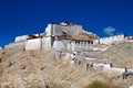
[[[23,46],[25,51],[43,48],[44,51],[89,52],[94,51],[93,47],[98,44],[113,44],[126,40],[124,34],[98,38],[96,34],[84,31],[82,25],[62,22],[48,24],[44,33],[17,36],[14,42],[6,45],[4,48]]]

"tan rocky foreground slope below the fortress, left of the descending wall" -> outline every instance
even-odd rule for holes
[[[23,48],[0,52],[0,88],[82,88],[100,74],[91,73],[57,58],[52,52]]]

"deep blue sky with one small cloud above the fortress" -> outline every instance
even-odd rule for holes
[[[133,35],[133,0],[0,0],[0,46],[62,21],[82,24],[101,37]]]

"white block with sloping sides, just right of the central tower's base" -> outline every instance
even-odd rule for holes
[[[54,41],[53,47],[54,51],[65,51],[66,47],[62,41]]]

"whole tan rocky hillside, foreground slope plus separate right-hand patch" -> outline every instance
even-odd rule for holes
[[[122,43],[101,55],[115,65],[121,65],[121,59],[131,63],[132,45]],[[123,80],[116,74],[101,72],[101,68],[86,70],[84,65],[70,64],[64,55],[59,57],[54,52],[24,51],[23,47],[0,51],[0,88],[83,88],[93,80],[127,88],[133,78]]]

